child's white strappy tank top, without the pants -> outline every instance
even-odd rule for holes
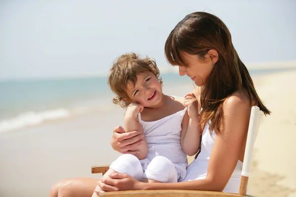
[[[166,116],[156,121],[143,121],[141,113],[139,123],[141,124],[148,144],[148,154],[146,159],[141,160],[143,169],[156,156],[168,158],[176,167],[178,179],[185,178],[187,157],[181,147],[181,124],[187,107],[172,115]]]

